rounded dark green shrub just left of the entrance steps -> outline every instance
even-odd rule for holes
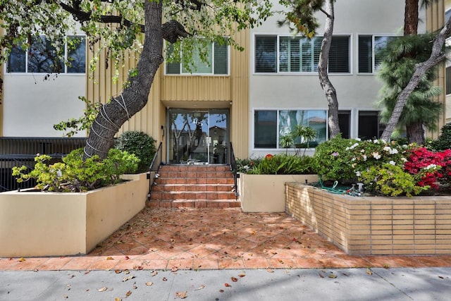
[[[149,166],[154,159],[156,152],[156,140],[144,132],[128,131],[124,132],[116,142],[116,149],[135,154],[140,159],[137,173],[144,173],[149,170]]]

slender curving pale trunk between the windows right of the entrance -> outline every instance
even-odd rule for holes
[[[338,124],[338,99],[335,87],[330,82],[328,77],[328,61],[330,44],[332,43],[333,34],[333,0],[326,1],[326,24],[324,27],[323,42],[321,42],[321,53],[318,63],[319,82],[323,88],[324,94],[329,107],[328,125],[329,137],[333,138],[340,133],[340,125]]]

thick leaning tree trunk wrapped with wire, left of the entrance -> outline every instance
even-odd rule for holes
[[[137,75],[129,75],[129,85],[124,87],[122,94],[102,106],[89,130],[85,159],[94,154],[105,158],[119,128],[147,104],[154,75],[163,63],[161,0],[145,1],[144,13],[144,47],[137,63]]]

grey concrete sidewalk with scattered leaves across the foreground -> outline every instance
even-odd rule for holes
[[[127,274],[128,273],[128,274]],[[450,300],[451,268],[0,271],[0,300]]]

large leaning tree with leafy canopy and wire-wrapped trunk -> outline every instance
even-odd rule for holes
[[[235,32],[258,26],[270,15],[270,0],[0,0],[0,61],[13,47],[29,49],[37,35],[47,35],[62,55],[64,39],[76,30],[85,32],[89,49],[99,45],[94,63],[104,49],[116,66],[127,55],[124,50],[139,51],[123,92],[100,108],[89,130],[85,156],[104,158],[121,125],[147,104],[163,62],[163,39],[186,47],[188,55],[199,38],[241,49]]]

